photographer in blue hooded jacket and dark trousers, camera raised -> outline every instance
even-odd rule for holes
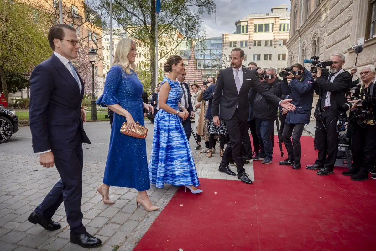
[[[280,165],[293,165],[293,169],[300,169],[300,158],[302,147],[300,137],[302,137],[305,124],[309,124],[313,102],[312,73],[301,64],[291,65],[292,73],[282,80],[282,94],[289,95],[296,106],[295,111],[289,111],[285,120],[282,140],[287,149],[288,158],[279,161]],[[287,84],[287,79],[291,79]],[[291,142],[291,136],[293,141]]]

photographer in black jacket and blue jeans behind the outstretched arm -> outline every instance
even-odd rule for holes
[[[262,85],[277,97],[282,97],[281,81],[275,68],[267,68]],[[268,102],[261,94],[256,93],[253,100],[252,113],[256,122],[256,134],[259,138],[260,153],[253,160],[262,160],[261,164],[270,164],[273,159],[273,145],[270,135],[273,133],[278,104]]]

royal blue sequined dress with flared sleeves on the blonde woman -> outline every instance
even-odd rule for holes
[[[144,126],[142,93],[143,85],[136,73],[127,74],[119,65],[114,65],[107,74],[103,95],[96,103],[101,106],[119,104],[135,122]],[[138,191],[148,190],[146,140],[122,134],[120,128],[124,122],[125,117],[114,113],[103,183]]]

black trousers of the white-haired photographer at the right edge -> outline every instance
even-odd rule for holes
[[[353,168],[370,171],[376,160],[376,125],[359,125],[353,122],[351,154]]]

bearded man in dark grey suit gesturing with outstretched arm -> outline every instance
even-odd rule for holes
[[[244,183],[252,184],[245,172],[243,156],[241,155],[242,136],[249,117],[249,89],[252,87],[269,102],[279,104],[287,110],[295,110],[295,106],[290,103],[290,99],[282,100],[263,87],[252,70],[242,68],[244,60],[242,49],[233,49],[230,60],[231,67],[219,71],[212,100],[214,124],[220,125],[220,116],[224,120],[230,136],[230,142],[227,144],[218,170],[229,175],[236,175],[228,166],[233,156],[237,165],[238,179]],[[250,138],[248,137],[247,140],[250,141]]]

